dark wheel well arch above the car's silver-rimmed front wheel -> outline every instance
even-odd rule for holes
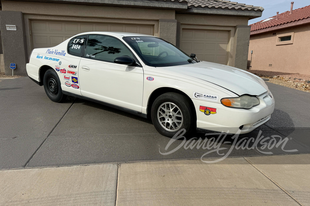
[[[167,92],[175,92],[175,93],[178,93],[180,95],[184,95],[185,97],[190,99],[189,103],[191,104],[191,107],[192,107],[193,111],[195,111],[195,106],[194,106],[193,101],[183,91],[175,89],[175,88],[171,88],[171,87],[161,87],[161,88],[158,88],[155,91],[153,91],[153,93],[151,94],[150,98],[148,99],[148,107],[147,107],[147,116],[148,116],[148,118],[151,117],[151,108],[152,108],[152,105],[153,105],[155,99],[157,97],[159,97],[160,95],[165,94]],[[194,116],[197,119],[196,112],[194,112]]]

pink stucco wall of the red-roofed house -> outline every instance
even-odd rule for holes
[[[276,45],[278,37],[294,32],[293,44]],[[310,24],[250,36],[248,60],[251,69],[310,75]],[[272,64],[272,67],[269,67]]]

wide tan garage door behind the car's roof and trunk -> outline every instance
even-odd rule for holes
[[[82,32],[131,32],[153,35],[153,26],[107,23],[31,21],[33,48],[53,47]]]

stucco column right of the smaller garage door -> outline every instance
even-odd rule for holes
[[[234,64],[232,66],[246,70],[249,42],[250,42],[250,26],[237,25],[235,27],[234,44],[232,59]]]

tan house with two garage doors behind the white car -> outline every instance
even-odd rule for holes
[[[226,0],[23,0],[1,1],[0,30],[5,73],[27,75],[33,48],[52,47],[90,31],[159,36],[204,61],[246,69],[248,20],[262,7]],[[6,25],[15,25],[9,31]]]

